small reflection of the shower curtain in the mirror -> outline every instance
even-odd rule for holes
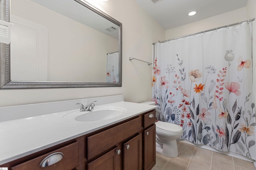
[[[106,82],[119,82],[119,52],[107,54]]]

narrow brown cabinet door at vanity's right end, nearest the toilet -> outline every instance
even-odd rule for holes
[[[144,131],[144,170],[151,170],[156,164],[156,125]]]

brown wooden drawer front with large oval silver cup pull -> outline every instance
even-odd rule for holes
[[[46,167],[40,167],[40,162],[50,154],[60,152],[63,154],[63,158]],[[49,152],[22,164],[13,166],[11,170],[71,170],[78,166],[78,142],[72,143],[60,149]]]

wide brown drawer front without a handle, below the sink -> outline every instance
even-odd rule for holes
[[[87,138],[87,159],[102,153],[142,129],[141,117],[122,123]]]

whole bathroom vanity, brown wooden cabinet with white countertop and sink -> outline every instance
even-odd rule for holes
[[[0,167],[8,170],[151,170],[156,163],[156,106],[118,101],[122,100],[122,95],[118,95],[110,99],[63,101],[56,107],[65,102],[68,107],[72,103],[94,100],[99,104],[97,107],[95,102],[94,115],[105,112],[104,109],[110,109],[109,114],[124,112],[88,121],[77,119],[86,113],[70,109],[0,122],[8,131],[0,131],[1,137],[6,137],[5,146],[0,146],[3,149]],[[21,124],[24,127],[19,126]]]

